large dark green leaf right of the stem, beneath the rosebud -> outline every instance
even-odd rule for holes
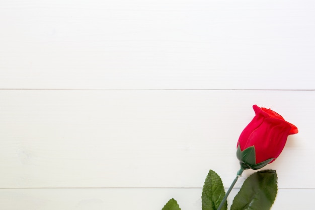
[[[231,210],[269,210],[277,195],[277,173],[259,171],[249,176],[234,197]]]

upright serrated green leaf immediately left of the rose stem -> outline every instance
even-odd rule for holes
[[[214,171],[210,170],[202,189],[202,210],[216,210],[225,195],[222,180]],[[227,202],[221,210],[227,209]]]

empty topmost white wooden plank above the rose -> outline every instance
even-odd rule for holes
[[[314,90],[312,1],[3,1],[1,89]]]

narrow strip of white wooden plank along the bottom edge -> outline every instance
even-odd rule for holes
[[[228,205],[237,192],[232,190]],[[279,189],[271,210],[309,209],[314,195],[314,189]],[[8,210],[160,210],[172,197],[182,209],[201,209],[201,189],[0,189],[0,204]]]

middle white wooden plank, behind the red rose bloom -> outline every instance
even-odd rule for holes
[[[276,169],[280,188],[315,188],[314,91],[0,91],[0,187],[229,186],[253,104],[299,128]],[[252,173],[245,172],[244,177]],[[238,186],[238,185],[237,185]]]

